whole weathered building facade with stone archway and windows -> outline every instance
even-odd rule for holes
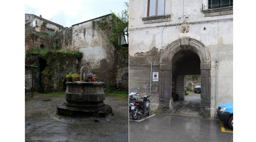
[[[151,110],[168,109],[172,93],[184,99],[184,76],[201,75],[204,113],[214,117],[216,91],[217,106],[233,101],[233,0],[130,0],[129,4],[130,91],[140,88],[142,95],[151,91]],[[151,62],[159,80],[149,90]]]

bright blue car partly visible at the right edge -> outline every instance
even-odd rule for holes
[[[233,102],[219,105],[217,116],[221,121],[228,123],[229,127],[233,129]]]

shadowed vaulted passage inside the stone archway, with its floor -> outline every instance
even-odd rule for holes
[[[194,92],[187,93],[185,88],[186,75],[200,75],[200,58],[189,50],[177,52],[172,60],[172,109],[173,114],[199,117],[201,95]]]

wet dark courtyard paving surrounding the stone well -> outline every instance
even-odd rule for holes
[[[64,96],[26,97],[26,142],[128,142],[127,99],[106,96],[114,113],[106,118],[58,115],[56,105],[64,101]]]

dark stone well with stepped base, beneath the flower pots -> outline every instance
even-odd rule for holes
[[[105,105],[104,82],[66,82],[64,103],[57,105],[59,114],[105,117],[112,113],[110,105]]]

